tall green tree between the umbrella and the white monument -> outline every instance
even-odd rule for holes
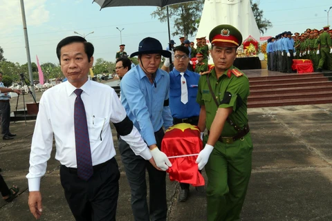
[[[183,35],[185,39],[194,35],[199,27],[199,20],[201,18],[204,1],[192,1],[189,3],[181,3],[173,6],[168,6],[169,19],[174,20],[175,31],[172,35]],[[167,10],[164,8],[157,8],[151,14],[152,17],[158,17],[161,22],[167,22]]]

